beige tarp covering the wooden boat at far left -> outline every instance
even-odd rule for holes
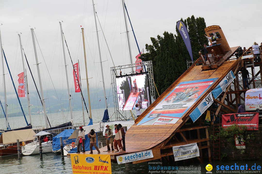
[[[0,143],[11,144],[16,143],[17,140],[21,141],[31,141],[34,140],[35,132],[33,129],[24,130],[13,130],[9,132],[3,132],[0,137]]]

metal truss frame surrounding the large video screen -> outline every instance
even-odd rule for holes
[[[147,67],[147,74],[148,74],[148,82],[149,82],[149,94],[150,94],[150,104],[152,104],[155,101],[155,86],[154,86],[154,75],[153,75],[153,67],[152,67],[152,61],[146,61],[141,63],[133,63],[128,65],[121,65],[117,67],[111,67],[111,80],[112,80],[112,89],[113,89],[113,102],[114,102],[114,114],[116,116],[116,121],[121,120],[129,120],[131,117],[127,118],[126,114],[122,114],[119,112],[118,107],[118,98],[117,98],[117,84],[116,84],[116,77],[128,77],[132,75],[139,75],[139,74],[145,74],[145,73],[138,73],[138,74],[127,74],[127,75],[118,75],[117,71],[121,71],[121,69],[130,69],[130,72],[132,69],[136,67]]]

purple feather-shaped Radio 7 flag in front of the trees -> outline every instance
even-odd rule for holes
[[[191,43],[190,43],[190,38],[188,35],[188,31],[187,31],[187,27],[185,27],[185,24],[183,21],[177,21],[177,29],[179,31],[179,33],[181,34],[185,46],[187,47],[187,51],[191,57],[191,60],[193,62],[193,53],[192,53],[192,48],[191,48]]]

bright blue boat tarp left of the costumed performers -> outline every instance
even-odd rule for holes
[[[58,151],[59,149],[61,149],[60,137],[62,137],[62,140],[66,140],[68,137],[70,137],[73,134],[73,132],[74,129],[65,129],[63,132],[53,137],[53,146],[52,146],[53,151]],[[69,143],[71,144],[72,140],[69,140]],[[63,143],[63,147],[64,146],[65,144]]]

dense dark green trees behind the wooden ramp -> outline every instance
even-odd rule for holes
[[[205,20],[203,17],[195,19],[194,16],[181,20],[184,21],[188,29],[195,61],[199,58],[199,50],[203,49],[204,44],[208,44],[208,39],[204,37]],[[177,28],[176,32],[177,35],[165,31],[163,36],[151,37],[152,45],[146,44],[147,53],[142,54],[140,57],[143,61],[152,61],[154,81],[159,94],[162,94],[187,70],[187,60],[191,60]]]

